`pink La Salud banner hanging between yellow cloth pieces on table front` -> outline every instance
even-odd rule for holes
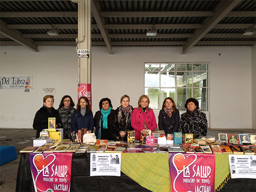
[[[214,192],[215,155],[169,153],[172,192]]]

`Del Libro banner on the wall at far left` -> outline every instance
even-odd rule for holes
[[[33,76],[2,76],[0,89],[32,89]]]

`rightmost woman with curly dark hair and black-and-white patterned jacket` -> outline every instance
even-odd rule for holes
[[[198,111],[199,103],[194,98],[186,101],[187,112],[181,115],[179,132],[193,133],[194,138],[205,136],[207,134],[207,118],[205,113]]]

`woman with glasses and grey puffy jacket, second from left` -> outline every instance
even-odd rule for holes
[[[64,128],[64,139],[70,139],[71,120],[73,113],[75,111],[75,103],[73,102],[71,96],[63,96],[59,104],[59,117]]]

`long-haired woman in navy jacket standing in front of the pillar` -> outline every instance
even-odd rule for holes
[[[72,117],[71,128],[75,133],[82,128],[88,128],[88,130],[93,132],[93,115],[90,109],[89,100],[85,96],[80,97],[77,102],[76,110]]]

